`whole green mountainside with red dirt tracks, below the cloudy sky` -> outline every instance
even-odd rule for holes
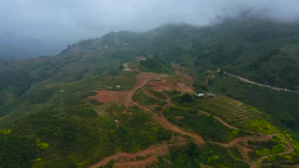
[[[296,166],[298,28],[168,24],[2,60],[0,165]]]

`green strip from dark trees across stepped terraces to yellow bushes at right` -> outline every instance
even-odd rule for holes
[[[265,115],[262,112],[224,96],[196,98],[193,95],[185,93],[183,95],[172,96],[172,102],[177,105],[210,112],[220,116],[228,123],[245,130],[265,134],[272,134],[278,131],[268,121],[260,118],[260,116]]]

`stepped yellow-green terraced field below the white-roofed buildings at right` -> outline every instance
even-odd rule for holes
[[[212,112],[232,125],[242,125],[250,118],[256,118],[262,112],[230,98],[219,96],[215,98],[197,99],[201,110]]]

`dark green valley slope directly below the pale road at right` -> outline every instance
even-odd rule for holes
[[[277,126],[288,128],[293,134],[299,131],[299,117],[296,114],[299,111],[298,93],[244,83],[227,75],[222,78],[218,74],[209,88],[217,94],[227,95],[269,113]]]

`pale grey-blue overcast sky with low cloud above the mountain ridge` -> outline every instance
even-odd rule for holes
[[[0,0],[0,35],[64,48],[112,30],[142,32],[180,22],[206,26],[244,11],[293,22],[298,6],[299,0]]]

